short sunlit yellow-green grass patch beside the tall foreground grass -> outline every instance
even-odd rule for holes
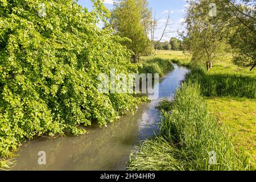
[[[236,150],[245,148],[250,155],[256,169],[256,100],[233,97],[206,98],[212,113],[217,121],[232,134],[232,141]]]

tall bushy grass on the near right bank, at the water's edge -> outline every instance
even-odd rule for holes
[[[158,105],[158,109],[162,107],[160,135],[146,140],[131,154],[127,169],[249,169],[246,156],[237,154],[232,139],[209,113],[198,86],[184,84],[175,100]],[[216,165],[209,163],[210,151],[216,152]]]

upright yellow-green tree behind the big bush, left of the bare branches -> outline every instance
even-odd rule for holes
[[[151,10],[145,0],[119,0],[114,2],[110,23],[117,35],[129,38],[124,45],[134,52],[133,62],[139,56],[151,52],[147,31],[150,24]]]

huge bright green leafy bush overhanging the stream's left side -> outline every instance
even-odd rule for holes
[[[134,72],[131,52],[113,30],[100,30],[108,11],[89,12],[73,0],[0,2],[0,156],[25,139],[78,135],[78,125],[106,125],[138,103],[130,94],[97,92],[100,73]]]

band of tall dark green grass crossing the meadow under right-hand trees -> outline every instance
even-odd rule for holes
[[[256,98],[256,76],[230,73],[205,73],[202,69],[192,69],[186,81],[199,84],[204,96],[233,96]]]

